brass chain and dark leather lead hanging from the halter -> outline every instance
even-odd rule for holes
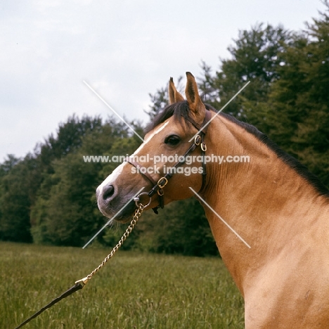
[[[119,250],[119,248],[124,243],[124,240],[126,240],[128,238],[129,234],[134,229],[139,217],[141,217],[144,207],[145,207],[144,205],[142,205],[141,203],[138,203],[138,208],[134,212],[133,219],[131,219],[131,222],[130,222],[129,226],[127,227],[127,230],[124,232],[122,238],[119,240],[117,245],[112,249],[110,254],[108,254],[108,256],[105,257],[103,262],[101,262],[101,264],[98,267],[96,267],[96,269],[94,269],[85,278],[75,281],[75,285],[73,285],[69,290],[65,291],[62,295],[60,295],[56,299],[53,299],[49,304],[47,304],[45,307],[43,307],[42,309],[37,311],[37,313],[33,314],[32,316],[30,316],[30,318],[27,318],[24,322],[20,323],[20,325],[18,325],[18,327],[16,327],[15,329],[22,328],[23,325],[26,325],[26,323],[30,322],[33,318],[36,318],[37,316],[39,316],[39,314],[41,314],[43,311],[46,311],[46,309],[49,309],[49,307],[52,307],[54,304],[59,302],[61,299],[64,299],[65,297],[72,295],[73,292],[76,292],[77,290],[84,288],[86,283],[88,283],[88,281],[93,277],[93,275],[96,272],[98,272],[114,256],[115,252],[117,252],[117,250]]]

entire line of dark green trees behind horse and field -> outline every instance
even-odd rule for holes
[[[239,32],[219,70],[202,63],[202,99],[253,124],[329,186],[329,15],[319,13],[303,31],[258,24]],[[181,86],[181,78],[176,82]],[[167,86],[150,94],[150,120],[167,105]],[[139,122],[131,122],[143,135]],[[75,115],[61,123],[24,158],[0,164],[0,240],[82,246],[104,224],[96,187],[117,166],[84,162],[83,155],[126,155],[139,138],[109,118]],[[105,229],[96,244],[114,245],[123,226]],[[159,215],[143,214],[126,249],[217,254],[202,207],[195,199],[174,202]]]

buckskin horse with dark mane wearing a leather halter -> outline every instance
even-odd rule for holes
[[[245,300],[246,329],[329,328],[328,189],[256,128],[202,103],[186,78],[186,100],[170,79],[169,105],[98,186],[98,208],[125,222],[136,205],[195,196]],[[242,155],[250,161],[233,161]]]

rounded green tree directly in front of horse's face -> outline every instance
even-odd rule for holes
[[[109,122],[82,138],[82,145],[52,162],[32,212],[37,243],[81,246],[103,226],[95,191],[118,163],[84,162],[84,155],[126,155],[138,147],[122,123]],[[103,176],[103,167],[107,173]],[[101,239],[101,236],[99,237]]]

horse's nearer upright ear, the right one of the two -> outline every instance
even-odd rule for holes
[[[185,94],[188,106],[195,116],[195,121],[201,123],[205,119],[205,104],[202,103],[199,96],[198,85],[195,82],[195,77],[193,77],[191,72],[186,72],[186,77],[187,82]]]

